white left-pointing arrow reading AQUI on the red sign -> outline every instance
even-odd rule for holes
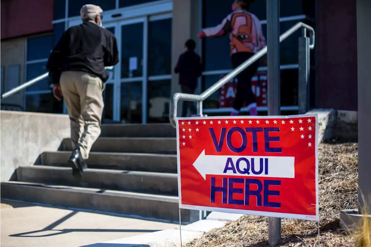
[[[262,171],[260,171],[260,159],[263,159]],[[246,162],[246,160],[248,162]],[[252,163],[254,163],[254,166]],[[193,163],[193,166],[201,174],[204,180],[206,180],[206,175],[295,178],[295,157],[205,155],[204,150]],[[226,167],[229,167],[230,169],[225,171]],[[232,167],[234,167],[234,170]],[[260,174],[254,174],[253,170],[255,173]],[[249,174],[243,174],[239,171],[242,171],[243,173],[247,171]]]

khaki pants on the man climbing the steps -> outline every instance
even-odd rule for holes
[[[88,159],[101,134],[103,82],[86,72],[66,71],[60,76],[60,88],[71,121],[73,149],[80,148],[82,158]]]

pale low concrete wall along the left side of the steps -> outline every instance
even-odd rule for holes
[[[58,150],[69,136],[68,115],[0,111],[0,182],[17,167],[33,165],[42,152]]]

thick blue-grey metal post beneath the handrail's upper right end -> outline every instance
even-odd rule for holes
[[[309,38],[299,37],[298,106],[299,114],[309,110],[310,53]]]

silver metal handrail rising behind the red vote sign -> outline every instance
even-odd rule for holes
[[[298,22],[294,26],[292,26],[289,30],[287,30],[285,33],[283,33],[279,37],[279,41],[282,42],[287,37],[289,37],[291,34],[295,33],[297,30],[303,28],[304,30],[308,30],[311,33],[311,42],[309,44],[309,48],[314,48],[314,40],[315,40],[315,33],[313,27]],[[238,66],[236,69],[232,70],[228,75],[224,76],[222,79],[220,79],[217,83],[215,83],[213,86],[211,86],[209,89],[207,89],[205,92],[201,93],[200,95],[195,94],[188,94],[188,93],[174,93],[174,95],[171,97],[170,100],[170,123],[173,125],[174,128],[176,128],[176,122],[175,118],[177,117],[177,104],[179,100],[186,100],[186,101],[195,101],[197,102],[197,114],[202,115],[202,102],[208,98],[210,95],[212,95],[216,90],[221,88],[224,84],[229,82],[231,79],[233,79],[236,75],[241,73],[244,69],[252,65],[254,62],[256,62],[260,57],[264,56],[267,53],[267,46],[265,46],[263,49],[261,49],[259,52],[255,53],[252,57],[250,57],[248,60],[246,60],[244,63],[242,63],[240,66]]]

